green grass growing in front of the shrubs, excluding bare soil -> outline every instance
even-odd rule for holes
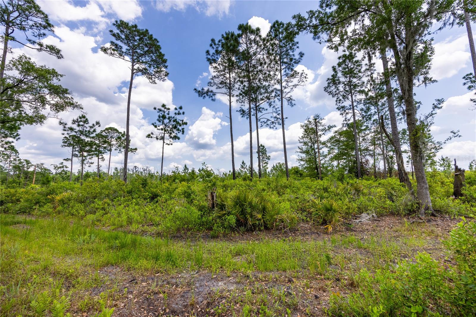
[[[259,315],[261,307],[287,314],[288,310],[303,308],[305,301],[301,296],[310,296],[312,292],[305,291],[302,295],[284,286],[306,290],[319,280],[328,294],[332,287],[348,288],[353,283],[352,272],[362,268],[388,269],[401,258],[415,256],[425,245],[424,237],[437,233],[425,226],[404,224],[389,231],[376,231],[372,236],[341,232],[308,240],[192,242],[105,231],[85,226],[75,218],[1,214],[0,226],[1,316],[30,314],[31,303],[45,291],[59,290],[57,297],[69,297],[70,309],[80,312],[101,312],[101,307],[114,306],[121,300],[130,301],[123,285],[98,274],[104,267],[119,267],[127,272],[124,274],[134,276],[170,277],[209,272],[211,277],[233,278],[238,284],[246,282],[247,287],[234,287],[225,299],[219,297],[218,292],[219,305],[208,307],[214,314],[233,311],[238,309],[237,305],[242,316]],[[251,277],[257,273],[254,285]],[[287,278],[298,281],[289,283]],[[283,287],[266,287],[263,283]],[[151,294],[161,294],[161,300],[165,294],[165,301],[170,301],[157,279],[147,284],[153,285],[148,290]],[[96,290],[96,294],[91,290]],[[248,292],[251,295],[247,295]],[[190,307],[198,303],[194,294],[188,301]],[[165,307],[167,304],[164,305],[167,309]]]

